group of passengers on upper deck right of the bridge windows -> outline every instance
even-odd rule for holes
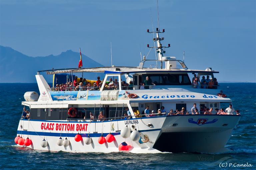
[[[201,89],[217,89],[218,81],[216,78],[210,78],[210,76],[202,76],[201,81],[197,78],[196,74],[192,78],[193,88]]]

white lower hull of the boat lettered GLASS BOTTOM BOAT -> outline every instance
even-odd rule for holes
[[[131,153],[223,153],[229,150],[225,144],[239,119],[240,116],[234,115],[159,116],[91,123],[24,119],[19,122],[17,135],[31,139],[32,144],[23,147],[46,151],[118,152],[118,146],[125,141]],[[130,137],[125,139],[120,135],[126,126],[131,132],[135,128],[139,131],[138,140],[132,141]],[[83,138],[79,142],[75,141],[78,132]],[[109,133],[114,135],[115,140],[99,144],[98,138]],[[92,139],[89,145],[84,142],[88,134]],[[69,140],[67,147],[57,145],[60,136]],[[44,138],[47,147],[40,144]]]

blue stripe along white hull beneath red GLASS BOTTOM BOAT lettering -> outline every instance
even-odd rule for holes
[[[145,131],[157,131],[157,130],[161,130],[161,129],[150,129],[150,130],[138,130],[139,132],[145,132]],[[17,134],[23,134],[23,135],[39,135],[39,136],[60,136],[62,134],[62,136],[66,136],[67,137],[75,137],[75,135],[77,133],[54,133],[54,132],[36,132],[36,131],[22,131],[22,130],[17,130]],[[80,133],[82,137],[87,137],[88,133]],[[107,136],[109,133],[103,133],[103,136]],[[119,135],[120,132],[114,132],[111,133],[112,135]],[[100,137],[101,133],[89,133],[90,137]]]

